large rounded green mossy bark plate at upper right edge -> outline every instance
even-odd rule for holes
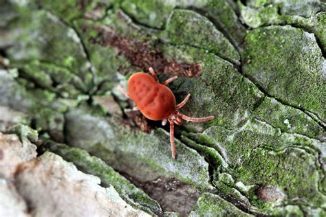
[[[325,59],[312,34],[263,27],[248,32],[245,44],[243,73],[275,98],[326,118]]]

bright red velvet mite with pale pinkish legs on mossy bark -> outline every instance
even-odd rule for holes
[[[184,104],[190,98],[190,94],[180,102],[176,104],[175,96],[166,84],[177,79],[177,76],[169,78],[162,84],[158,81],[155,71],[149,68],[152,76],[147,73],[138,72],[134,73],[128,80],[129,93],[120,87],[121,91],[127,97],[131,98],[137,105],[133,108],[134,111],[140,110],[140,112],[148,119],[158,121],[162,120],[162,125],[165,125],[167,121],[170,122],[170,141],[172,157],[175,158],[175,143],[174,143],[174,124],[182,125],[183,119],[189,122],[205,122],[210,119],[214,119],[214,116],[208,117],[188,117],[178,109],[181,109]]]

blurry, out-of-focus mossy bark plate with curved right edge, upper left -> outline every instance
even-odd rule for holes
[[[6,28],[8,30],[0,39],[3,37],[10,45],[6,54],[12,63],[25,65],[39,60],[48,65],[56,65],[78,76],[83,82],[83,86],[79,87],[83,91],[91,88],[91,64],[80,38],[74,29],[56,16],[43,10],[31,10],[9,23]]]

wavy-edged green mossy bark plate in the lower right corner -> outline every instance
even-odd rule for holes
[[[244,183],[279,185],[289,199],[300,196],[321,205],[325,197],[316,189],[318,172],[316,168],[305,171],[314,168],[314,163],[313,157],[296,148],[277,153],[259,148],[243,160],[241,168],[235,168],[235,174]]]

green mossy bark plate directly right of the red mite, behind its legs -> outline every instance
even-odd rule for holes
[[[263,98],[263,93],[243,78],[230,62],[204,49],[180,45],[164,45],[166,58],[180,62],[196,62],[202,66],[198,78],[178,78],[170,85],[177,102],[187,93],[191,98],[182,108],[182,113],[191,117],[215,116],[210,122],[190,123],[193,127],[219,125],[235,128],[245,122]]]

